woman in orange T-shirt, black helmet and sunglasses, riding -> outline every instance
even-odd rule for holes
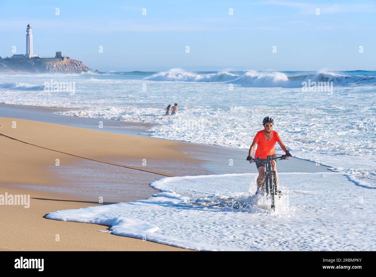
[[[274,149],[274,146],[276,145],[276,142],[278,142],[280,148],[286,152],[285,157],[289,158],[291,157],[290,152],[287,150],[286,145],[282,142],[282,139],[279,137],[278,133],[276,131],[273,131],[273,125],[274,125],[274,119],[271,118],[271,116],[267,116],[262,120],[262,124],[264,125],[264,130],[261,130],[256,133],[255,138],[253,139],[252,145],[249,148],[248,158],[249,162],[251,163],[252,153],[253,150],[255,150],[255,147],[257,145],[255,158],[259,157],[261,159],[266,159],[267,156],[271,156],[272,158],[277,157],[276,150]],[[277,185],[278,185],[278,173],[277,173],[277,163],[276,161],[271,161],[271,165],[273,167],[273,171],[276,171],[276,179],[277,179]],[[261,190],[262,183],[265,179],[265,167],[261,162],[256,161],[256,166],[259,172],[259,176],[257,178],[257,190],[256,194],[259,193]]]

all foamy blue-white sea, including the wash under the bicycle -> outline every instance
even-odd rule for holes
[[[44,83],[75,82],[75,93]],[[332,90],[302,89],[329,82]],[[0,102],[68,107],[61,116],[155,124],[156,138],[246,149],[262,118],[327,172],[279,173],[276,211],[255,173],[162,178],[153,197],[56,211],[50,219],[198,250],[376,250],[376,72],[108,72],[0,75]],[[164,116],[178,103],[175,116]],[[282,152],[279,145],[276,150]],[[246,150],[244,150],[246,155]]]

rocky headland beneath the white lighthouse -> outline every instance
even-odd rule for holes
[[[26,71],[32,73],[80,73],[91,69],[82,61],[64,58],[0,58],[0,71]]]

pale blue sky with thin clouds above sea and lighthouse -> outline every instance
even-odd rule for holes
[[[0,56],[29,22],[34,54],[99,70],[376,70],[375,1],[0,0]]]

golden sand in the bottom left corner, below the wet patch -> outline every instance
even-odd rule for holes
[[[30,194],[30,208],[0,206],[2,243],[0,251],[190,251],[141,239],[109,234],[109,226],[51,220],[57,210],[97,206],[98,203],[9,188],[0,184],[0,194]],[[17,230],[17,231],[15,231]]]

